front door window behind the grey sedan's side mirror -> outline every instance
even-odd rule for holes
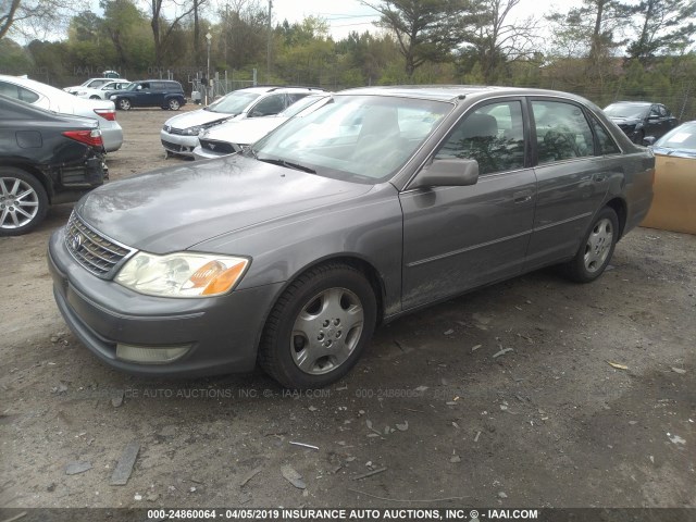
[[[468,158],[478,172],[492,174],[524,167],[524,124],[520,101],[476,108],[459,122],[436,158]]]

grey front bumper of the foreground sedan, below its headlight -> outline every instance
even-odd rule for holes
[[[48,264],[58,308],[79,340],[110,366],[139,375],[192,377],[251,371],[265,316],[282,286],[209,299],[144,296],[77,264],[65,248],[64,228],[50,238]],[[135,363],[116,357],[117,344],[190,349],[172,362]]]

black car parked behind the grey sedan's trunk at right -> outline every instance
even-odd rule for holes
[[[605,107],[605,113],[638,145],[648,136],[657,139],[679,125],[667,107],[649,101],[617,101]]]

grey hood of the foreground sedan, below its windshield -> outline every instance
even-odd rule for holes
[[[85,196],[75,210],[111,239],[166,253],[330,207],[371,188],[232,156],[104,185]]]

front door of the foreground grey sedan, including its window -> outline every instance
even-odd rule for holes
[[[435,152],[476,160],[475,185],[400,194],[405,310],[521,272],[536,200],[524,113],[522,98],[474,107]]]

